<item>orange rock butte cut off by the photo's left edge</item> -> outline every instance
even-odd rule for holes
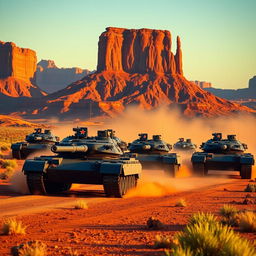
[[[36,53],[0,41],[0,93],[10,97],[42,96],[35,85]]]

